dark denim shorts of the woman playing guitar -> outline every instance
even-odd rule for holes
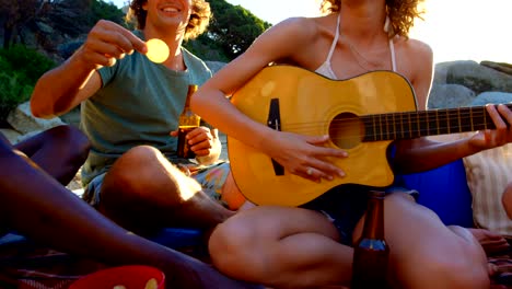
[[[384,189],[387,194],[406,193],[415,199],[419,193],[415,189],[392,186]],[[362,185],[342,185],[329,189],[316,199],[304,204],[301,208],[324,213],[336,227],[340,243],[352,246],[352,233],[359,220],[366,211],[370,188]]]

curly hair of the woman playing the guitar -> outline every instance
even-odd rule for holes
[[[342,0],[322,0],[322,12],[338,12]],[[386,0],[387,16],[391,21],[389,37],[400,35],[407,37],[409,30],[415,24],[415,19],[421,18],[424,12],[419,10],[423,0]]]

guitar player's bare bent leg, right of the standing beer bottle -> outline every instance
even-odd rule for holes
[[[485,252],[468,230],[445,227],[434,212],[406,194],[387,196],[384,211],[389,274],[398,288],[490,287]]]

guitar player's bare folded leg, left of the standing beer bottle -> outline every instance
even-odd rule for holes
[[[213,231],[209,250],[224,274],[275,288],[348,284],[352,248],[338,242],[316,211],[261,206],[243,210]]]

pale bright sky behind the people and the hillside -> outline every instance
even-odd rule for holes
[[[108,1],[108,0],[106,0]],[[226,0],[276,24],[290,16],[315,16],[318,0]],[[113,0],[121,7],[126,0]],[[434,61],[491,60],[512,63],[511,0],[426,0],[424,21],[410,36],[428,43]]]

